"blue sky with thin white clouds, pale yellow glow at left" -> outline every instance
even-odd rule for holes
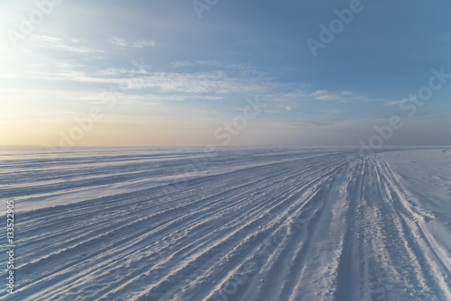
[[[0,145],[448,145],[446,0],[0,2]]]

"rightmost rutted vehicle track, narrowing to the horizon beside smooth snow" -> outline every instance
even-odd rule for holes
[[[354,235],[357,250],[345,247],[343,259],[351,257],[345,255],[349,250],[355,252],[352,257],[359,267],[352,269],[360,271],[360,296],[352,297],[353,287],[346,282],[348,271],[345,271],[338,276],[342,280],[338,281],[337,300],[385,300],[390,297],[441,300],[444,296],[438,293],[430,270],[425,269],[424,251],[386,189],[388,181],[378,156],[365,159],[365,167],[361,205],[354,213],[357,228],[348,230],[357,233]],[[339,272],[343,273],[343,269]]]

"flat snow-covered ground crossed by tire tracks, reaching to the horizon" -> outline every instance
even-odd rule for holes
[[[451,150],[204,150],[0,148],[0,300],[451,300]]]

